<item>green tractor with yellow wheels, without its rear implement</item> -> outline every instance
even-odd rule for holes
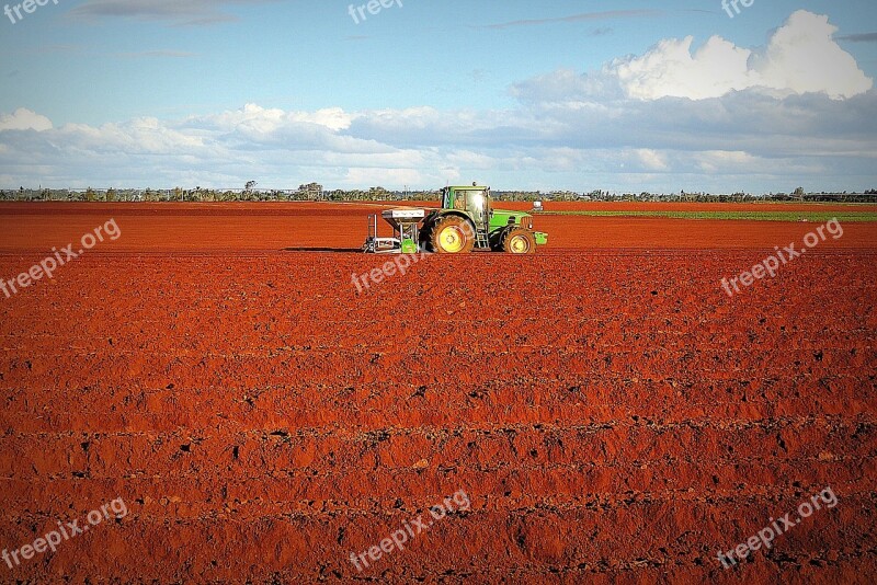
[[[492,250],[533,254],[548,234],[533,231],[533,216],[493,208],[490,187],[445,187],[442,207],[430,213],[420,229],[420,246],[438,254]]]

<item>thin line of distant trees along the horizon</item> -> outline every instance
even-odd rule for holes
[[[367,190],[334,190],[327,191],[319,183],[299,185],[297,190],[260,190],[255,181],[249,181],[243,188],[194,188],[176,187],[172,190],[153,188],[105,188],[95,190],[0,190],[0,200],[33,200],[33,202],[296,202],[296,200],[330,200],[330,202],[394,202],[394,200],[438,200],[441,190],[432,191],[389,191],[384,187],[369,187]],[[877,203],[877,190],[865,193],[806,193],[802,187],[797,187],[790,193],[768,193],[753,195],[743,192],[732,194],[711,194],[702,192],[686,192],[670,194],[641,193],[613,193],[595,190],[591,192],[572,191],[494,191],[494,198],[509,202],[691,202],[691,203],[745,203],[745,202],[834,202],[834,203]]]

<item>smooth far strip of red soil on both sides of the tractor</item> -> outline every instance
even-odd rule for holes
[[[417,205],[411,203],[410,205]],[[514,203],[501,203],[514,207]],[[527,204],[529,205],[529,204]],[[553,204],[561,205],[561,204]],[[591,204],[568,204],[583,208]],[[619,205],[619,204],[612,204]],[[694,204],[693,204],[694,205]],[[697,209],[705,204],[696,204]],[[522,207],[522,204],[517,204]],[[365,240],[367,218],[386,204],[4,204],[0,205],[0,252],[44,253],[67,245],[114,218],[124,237],[100,251],[280,251],[326,249],[356,251]],[[526,207],[524,205],[522,208]],[[724,206],[727,207],[727,206]],[[865,208],[867,206],[857,207]],[[664,205],[664,209],[676,207]],[[822,207],[819,207],[822,209]],[[844,206],[828,206],[842,211]],[[383,223],[383,222],[381,222]],[[797,242],[817,225],[764,221],[682,221],[664,218],[539,216],[535,227],[548,232],[548,249],[755,249]],[[389,236],[387,226],[380,227]],[[874,223],[844,225],[841,239],[825,249],[877,246]],[[95,249],[98,250],[98,249]],[[761,260],[761,259],[756,259]]]

